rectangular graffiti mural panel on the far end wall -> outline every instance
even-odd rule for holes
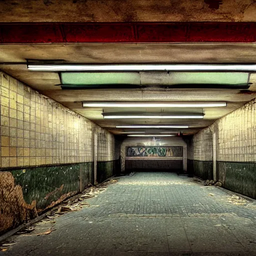
[[[182,146],[127,146],[126,156],[182,157]]]

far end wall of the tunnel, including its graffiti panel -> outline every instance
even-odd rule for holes
[[[126,149],[133,153],[127,153]],[[120,157],[122,172],[182,171],[186,170],[187,145],[181,137],[127,137],[121,144]]]

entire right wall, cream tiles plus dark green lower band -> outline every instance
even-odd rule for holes
[[[256,100],[199,131],[188,143],[188,172],[256,198]]]

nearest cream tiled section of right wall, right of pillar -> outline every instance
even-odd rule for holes
[[[256,162],[256,100],[219,119],[218,161]]]

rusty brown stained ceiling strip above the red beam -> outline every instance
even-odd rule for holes
[[[255,21],[254,0],[1,0],[0,22]]]

